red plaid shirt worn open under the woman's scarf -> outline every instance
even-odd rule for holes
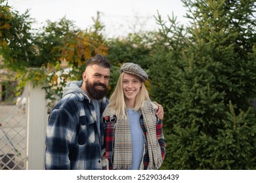
[[[105,145],[106,145],[106,158],[108,159],[109,169],[112,170],[113,159],[114,159],[113,152],[114,152],[116,121],[110,122],[110,118],[111,118],[110,116],[106,116],[104,118],[106,122],[103,123],[103,126],[104,126],[104,137],[105,137]],[[140,127],[144,133],[144,137],[146,137],[146,127],[144,125],[142,115],[140,116]],[[164,159],[166,143],[163,137],[163,122],[161,120],[156,121],[156,136],[158,139],[158,144],[160,145],[160,148],[161,148],[161,157]],[[147,169],[148,162],[149,162],[148,147],[146,146],[146,153],[143,156],[144,170]]]

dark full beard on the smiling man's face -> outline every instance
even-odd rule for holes
[[[102,86],[104,87],[104,90],[98,90],[96,86]],[[100,82],[91,83],[89,80],[85,81],[85,88],[89,95],[96,100],[103,99],[103,97],[105,97],[106,93],[108,92],[108,87],[105,84]]]

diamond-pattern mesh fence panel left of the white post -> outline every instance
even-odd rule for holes
[[[0,169],[26,169],[26,91],[16,105],[0,110],[8,112],[0,119]]]

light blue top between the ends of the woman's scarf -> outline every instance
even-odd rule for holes
[[[144,136],[139,122],[140,112],[128,109],[128,116],[131,127],[131,142],[133,148],[131,170],[139,170],[144,149]]]

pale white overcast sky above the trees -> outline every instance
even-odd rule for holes
[[[183,17],[186,8],[180,0],[9,0],[8,3],[20,13],[29,9],[31,18],[37,21],[35,27],[42,26],[46,20],[55,22],[66,16],[77,27],[85,29],[93,25],[92,18],[100,12],[100,20],[109,37],[139,29],[158,29],[154,18],[158,12],[165,20],[173,13],[181,24],[188,22]]]

